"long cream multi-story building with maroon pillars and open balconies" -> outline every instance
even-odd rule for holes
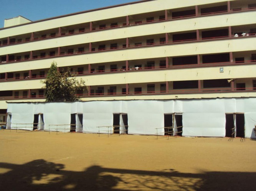
[[[53,61],[86,81],[84,101],[256,97],[255,0],[143,0],[14,19],[0,29],[2,120],[6,101],[45,100],[40,80]]]

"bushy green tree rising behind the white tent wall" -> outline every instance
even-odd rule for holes
[[[86,87],[83,79],[78,81],[76,74],[70,72],[70,68],[68,68],[67,71],[63,70],[59,72],[56,62],[51,63],[47,78],[46,80],[42,80],[41,83],[45,84],[42,88],[46,89],[46,102],[81,100],[81,98],[76,95],[76,91],[83,90]]]

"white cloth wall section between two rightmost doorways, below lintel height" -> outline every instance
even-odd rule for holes
[[[183,113],[182,136],[225,136],[225,113]]]

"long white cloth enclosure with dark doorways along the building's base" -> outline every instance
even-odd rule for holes
[[[113,126],[117,114],[120,133],[156,135],[159,128],[164,135],[170,124],[172,135],[225,137],[234,130],[236,136],[256,138],[256,98],[11,102],[7,112],[7,128],[26,130],[36,121],[38,129],[69,132],[73,124],[76,132],[98,133],[97,127]]]

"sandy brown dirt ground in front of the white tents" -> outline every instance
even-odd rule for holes
[[[3,190],[253,190],[256,140],[0,130]]]

